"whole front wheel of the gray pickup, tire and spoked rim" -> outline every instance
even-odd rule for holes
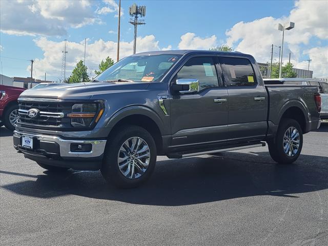
[[[109,139],[101,174],[116,187],[137,187],[150,178],[156,157],[152,135],[144,128],[125,126]]]

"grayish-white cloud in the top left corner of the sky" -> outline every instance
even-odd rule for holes
[[[67,28],[100,22],[81,1],[1,1],[1,31],[12,35],[63,36]]]

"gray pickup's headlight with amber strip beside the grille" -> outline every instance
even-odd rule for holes
[[[67,117],[71,118],[73,127],[89,127],[92,122],[98,122],[103,113],[101,104],[74,104],[72,113],[67,114]]]

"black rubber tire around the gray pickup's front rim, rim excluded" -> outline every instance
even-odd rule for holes
[[[118,155],[120,153],[121,146],[128,139],[133,137],[141,138],[146,142],[147,146],[149,147],[150,158],[148,159],[148,167],[145,172],[142,172],[141,176],[135,178],[128,178],[124,174],[122,174],[118,167]],[[103,177],[112,185],[118,188],[134,188],[140,186],[142,183],[146,182],[150,178],[155,168],[156,157],[156,144],[152,135],[144,128],[127,125],[121,127],[120,129],[115,131],[113,135],[110,136],[110,139],[106,144],[103,165],[100,171]],[[130,167],[129,161],[130,158],[127,160],[127,166]],[[132,163],[132,157],[130,163]],[[136,171],[139,171],[139,169],[137,169],[137,166],[134,166],[134,164],[132,168]]]

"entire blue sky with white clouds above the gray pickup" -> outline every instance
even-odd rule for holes
[[[305,60],[310,57],[310,69],[318,77],[326,77],[327,66],[322,63],[328,61],[328,17],[324,17],[328,5],[320,2],[122,1],[121,56],[132,53],[133,26],[128,23],[128,9],[137,3],[147,6],[146,25],[138,27],[137,51],[208,49],[228,44],[251,53],[259,62],[267,62],[271,44],[281,44],[281,32],[275,25],[292,21],[295,29],[286,31],[284,60],[292,52],[295,67],[307,69]],[[115,59],[117,4],[118,1],[2,1],[2,73],[29,76],[28,60],[35,59],[33,77],[43,78],[47,72],[48,78],[56,80],[60,76],[64,39],[69,42],[68,74],[83,59],[85,38],[89,68],[97,69],[97,64],[107,56]],[[311,14],[306,16],[306,12]],[[312,17],[318,15],[321,20]]]

